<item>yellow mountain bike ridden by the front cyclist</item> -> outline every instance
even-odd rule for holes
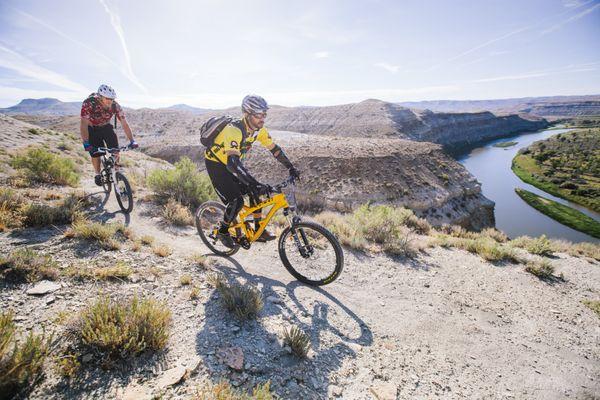
[[[288,187],[289,195],[283,192]],[[254,229],[253,213],[269,208],[266,217]],[[279,257],[285,268],[299,281],[312,286],[333,282],[342,272],[344,253],[337,238],[324,226],[302,221],[296,213],[296,196],[293,178],[273,186],[273,195],[263,202],[244,207],[229,228],[236,242],[232,249],[225,247],[217,238],[225,206],[217,201],[207,201],[196,211],[196,228],[204,244],[215,254],[231,256],[241,248],[249,249],[263,233],[277,211],[283,209],[287,226],[279,236]]]

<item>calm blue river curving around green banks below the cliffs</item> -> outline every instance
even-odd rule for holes
[[[569,129],[546,129],[539,132],[497,139],[486,143],[482,147],[471,150],[468,154],[457,157],[458,161],[481,182],[481,189],[484,196],[496,203],[496,227],[511,238],[520,235],[540,236],[545,234],[551,238],[566,239],[572,242],[600,243],[600,240],[562,225],[540,213],[517,196],[514,190],[516,187],[529,190],[540,196],[575,208],[600,221],[599,213],[552,196],[521,181],[510,168],[512,159],[519,149],[527,147],[535,141],[568,131]],[[517,142],[517,144],[509,148],[493,146],[495,143],[506,141]]]

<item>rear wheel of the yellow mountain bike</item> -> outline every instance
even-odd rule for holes
[[[225,206],[223,204],[217,201],[202,203],[196,210],[196,229],[200,239],[210,251],[220,256],[231,256],[240,249],[240,246],[236,245],[236,247],[230,249],[223,245],[216,236],[224,215]]]

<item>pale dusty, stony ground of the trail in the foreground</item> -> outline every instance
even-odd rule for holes
[[[88,192],[95,191],[91,180]],[[141,196],[141,193],[140,193]],[[138,197],[140,197],[138,196]],[[136,269],[130,281],[63,281],[53,295],[32,297],[28,285],[3,286],[2,308],[12,308],[26,328],[60,332],[53,322],[100,292],[133,292],[164,299],[173,311],[166,351],[103,371],[84,364],[68,383],[51,366],[31,398],[186,398],[204,381],[221,378],[248,388],[272,381],[282,398],[595,398],[600,395],[600,319],[581,301],[600,298],[600,265],[558,255],[552,260],[563,283],[548,284],[523,265],[492,265],[460,250],[432,248],[416,260],[345,250],[345,269],[321,289],[295,281],[281,265],[276,245],[256,244],[233,258],[212,257],[211,269],[260,287],[265,308],[257,321],[239,323],[206,284],[207,271],[187,257],[207,253],[192,227],[166,228],[138,202],[130,218],[109,198],[97,218],[122,221],[138,234],[168,243],[160,258],[147,247],[116,252],[66,240],[60,229],[2,234],[0,251],[33,246],[66,266],[73,262],[124,260]],[[158,271],[158,272],[157,272]],[[189,273],[201,288],[189,300],[179,277]],[[156,275],[160,275],[156,277]],[[49,302],[50,297],[53,302]],[[299,361],[282,347],[284,327],[310,333],[312,351]],[[244,368],[218,358],[220,348],[239,347]],[[183,383],[162,389],[172,368],[195,368]],[[375,397],[379,396],[379,397]]]

